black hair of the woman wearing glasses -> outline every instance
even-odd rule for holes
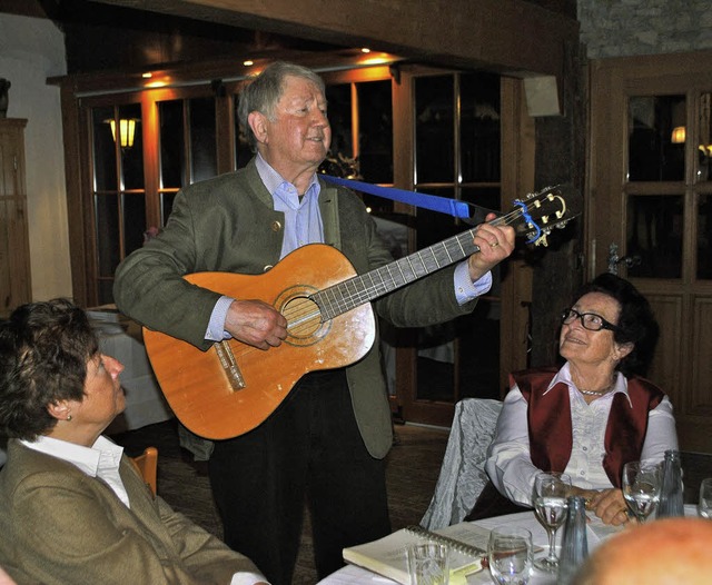
[[[647,299],[629,280],[611,272],[595,277],[578,290],[575,299],[589,292],[601,292],[615,299],[621,315],[613,339],[619,344],[633,344],[633,350],[617,365],[625,376],[644,376],[653,359],[660,328]]]

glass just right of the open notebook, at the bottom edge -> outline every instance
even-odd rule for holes
[[[490,533],[490,575],[500,585],[526,585],[532,576],[532,533],[518,526],[500,526]]]

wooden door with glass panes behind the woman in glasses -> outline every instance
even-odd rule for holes
[[[661,336],[649,377],[712,453],[712,53],[594,61],[590,276],[627,277]]]

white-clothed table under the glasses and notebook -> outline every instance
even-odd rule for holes
[[[685,516],[695,516],[696,507],[694,505],[685,505]],[[487,529],[492,529],[498,526],[522,526],[528,528],[532,532],[532,539],[534,546],[541,546],[543,552],[540,555],[545,555],[548,547],[548,538],[546,532],[542,525],[534,517],[534,512],[520,512],[517,514],[510,514],[506,516],[497,516],[494,518],[486,518],[477,520],[475,523]],[[586,527],[586,537],[589,539],[589,552],[593,552],[607,537],[623,531],[623,527],[605,526],[597,518],[592,518]],[[558,531],[556,535],[557,544],[561,544],[561,535],[563,528]],[[347,565],[336,573],[329,575],[325,579],[322,579],[318,585],[393,585],[396,582],[376,575],[365,568],[360,568],[354,565]],[[548,574],[538,569],[534,569],[534,574],[530,579],[530,585],[554,585],[556,583],[556,575]],[[492,584],[492,577],[488,571],[479,571],[467,577],[468,585]]]

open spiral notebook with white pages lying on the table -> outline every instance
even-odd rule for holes
[[[370,543],[344,548],[344,561],[392,578],[403,585],[409,584],[406,549],[422,543],[439,543],[449,546],[449,583],[466,583],[467,575],[482,569],[487,554],[490,531],[463,522],[438,531],[422,526],[408,526]]]

